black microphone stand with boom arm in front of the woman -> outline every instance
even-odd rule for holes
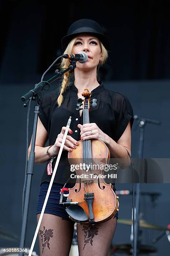
[[[63,55],[62,55],[63,56]],[[61,59],[62,56],[59,56],[52,65],[58,60]],[[50,67],[52,67],[52,65]],[[50,67],[47,69],[47,71],[50,69]],[[25,192],[25,202],[24,202],[24,211],[23,211],[23,223],[21,228],[21,238],[20,238],[20,248],[25,247],[25,238],[26,238],[26,228],[27,228],[27,220],[28,220],[28,210],[29,210],[29,202],[30,202],[30,190],[31,190],[31,182],[32,182],[32,175],[33,175],[33,169],[34,169],[34,162],[35,162],[35,138],[36,138],[36,131],[37,131],[37,118],[39,113],[39,106],[40,106],[40,90],[49,90],[50,84],[54,82],[56,79],[60,78],[63,74],[68,72],[69,70],[73,70],[76,68],[76,61],[72,60],[69,67],[65,69],[64,71],[58,71],[56,70],[55,76],[51,77],[47,81],[41,81],[38,84],[35,84],[35,88],[27,92],[25,95],[21,97],[22,101],[26,101],[27,103],[29,100],[35,100],[36,104],[34,108],[34,125],[33,125],[33,132],[32,132],[32,143],[31,143],[31,151],[30,156],[28,159],[28,168],[27,168],[27,185],[26,185],[26,192]],[[46,72],[47,72],[46,71]],[[43,76],[46,74],[46,72],[43,74]],[[43,78],[42,76],[42,78]],[[48,87],[45,89],[45,87]],[[27,103],[24,104],[24,106],[27,106]],[[28,149],[27,149],[28,150]],[[19,253],[19,256],[23,256],[23,252]]]

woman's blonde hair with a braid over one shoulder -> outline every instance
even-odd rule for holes
[[[70,43],[68,44],[67,48],[64,51],[64,54],[69,54],[69,53],[72,52],[72,48],[74,46],[74,43],[75,43],[76,39],[79,36],[76,36],[75,38],[73,38],[70,41]],[[98,68],[97,69],[97,74],[98,74],[99,67],[102,66],[108,58],[108,51],[105,49],[105,46],[103,46],[102,42],[100,42],[100,48],[101,48],[101,53],[102,53],[102,59],[100,60],[98,66],[97,66],[97,68]],[[68,68],[69,65],[70,65],[70,61],[68,59],[63,58],[62,62],[60,64],[60,69],[65,70],[65,69]],[[62,83],[61,83],[61,86],[60,86],[60,95],[57,98],[58,107],[61,106],[62,101],[64,99],[62,94],[67,90],[69,85],[73,82],[73,79],[74,79],[74,70],[70,70],[69,72],[66,72],[64,74],[63,79],[62,79]]]

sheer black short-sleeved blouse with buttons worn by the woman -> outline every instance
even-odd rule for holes
[[[99,83],[100,85],[91,91],[91,99],[97,99],[97,107],[89,110],[90,123],[96,123],[104,133],[117,142],[129,121],[132,128],[133,108],[125,95],[106,89],[101,81]],[[72,84],[63,94],[64,100],[60,108],[57,107],[57,97],[59,96],[57,90],[48,92],[42,97],[39,118],[48,132],[49,145],[55,143],[57,135],[61,132],[62,126],[67,125],[70,116],[72,116],[70,129],[73,133],[69,133],[69,135],[80,141],[80,129],[77,128],[77,124],[83,124],[83,112],[80,117],[79,110],[76,110],[77,92],[77,87]],[[68,151],[62,152],[55,174],[55,183],[65,184],[70,177],[70,164],[67,155]],[[52,163],[52,169],[54,169],[56,159]],[[52,175],[47,175],[49,161],[50,159],[46,163],[41,183],[50,182]]]

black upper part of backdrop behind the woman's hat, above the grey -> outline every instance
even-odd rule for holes
[[[60,39],[67,28],[81,18],[96,20],[110,37],[110,61],[103,67],[103,79],[168,79],[168,7],[168,0],[105,4],[70,1],[69,5],[60,1],[1,1],[2,80],[23,82],[34,72],[44,72],[61,53]]]

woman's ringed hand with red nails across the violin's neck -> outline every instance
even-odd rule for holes
[[[95,139],[95,140],[101,140],[104,143],[107,142],[107,134],[103,133],[100,128],[98,128],[96,123],[86,123],[84,125],[81,125],[80,123],[77,125],[77,127],[80,129],[80,136],[81,140],[89,140],[89,139]]]

